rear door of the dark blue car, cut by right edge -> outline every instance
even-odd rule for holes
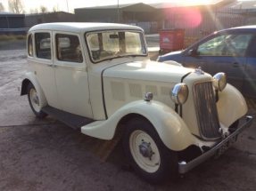
[[[246,96],[256,98],[256,36],[252,37],[246,57],[243,93]]]

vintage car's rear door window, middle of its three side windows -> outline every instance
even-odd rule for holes
[[[36,53],[37,58],[40,59],[52,59],[51,52],[51,36],[49,33],[36,33],[35,34],[36,42]]]

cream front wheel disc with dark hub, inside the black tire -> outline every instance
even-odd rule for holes
[[[133,131],[129,137],[129,148],[136,164],[149,173],[158,171],[161,163],[159,149],[153,138],[145,131]]]

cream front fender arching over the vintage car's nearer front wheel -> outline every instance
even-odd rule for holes
[[[196,144],[194,136],[181,117],[172,108],[158,101],[130,102],[120,107],[108,120],[87,124],[81,127],[81,131],[96,138],[112,139],[121,118],[129,114],[143,115],[153,124],[162,142],[171,150],[180,151]]]

